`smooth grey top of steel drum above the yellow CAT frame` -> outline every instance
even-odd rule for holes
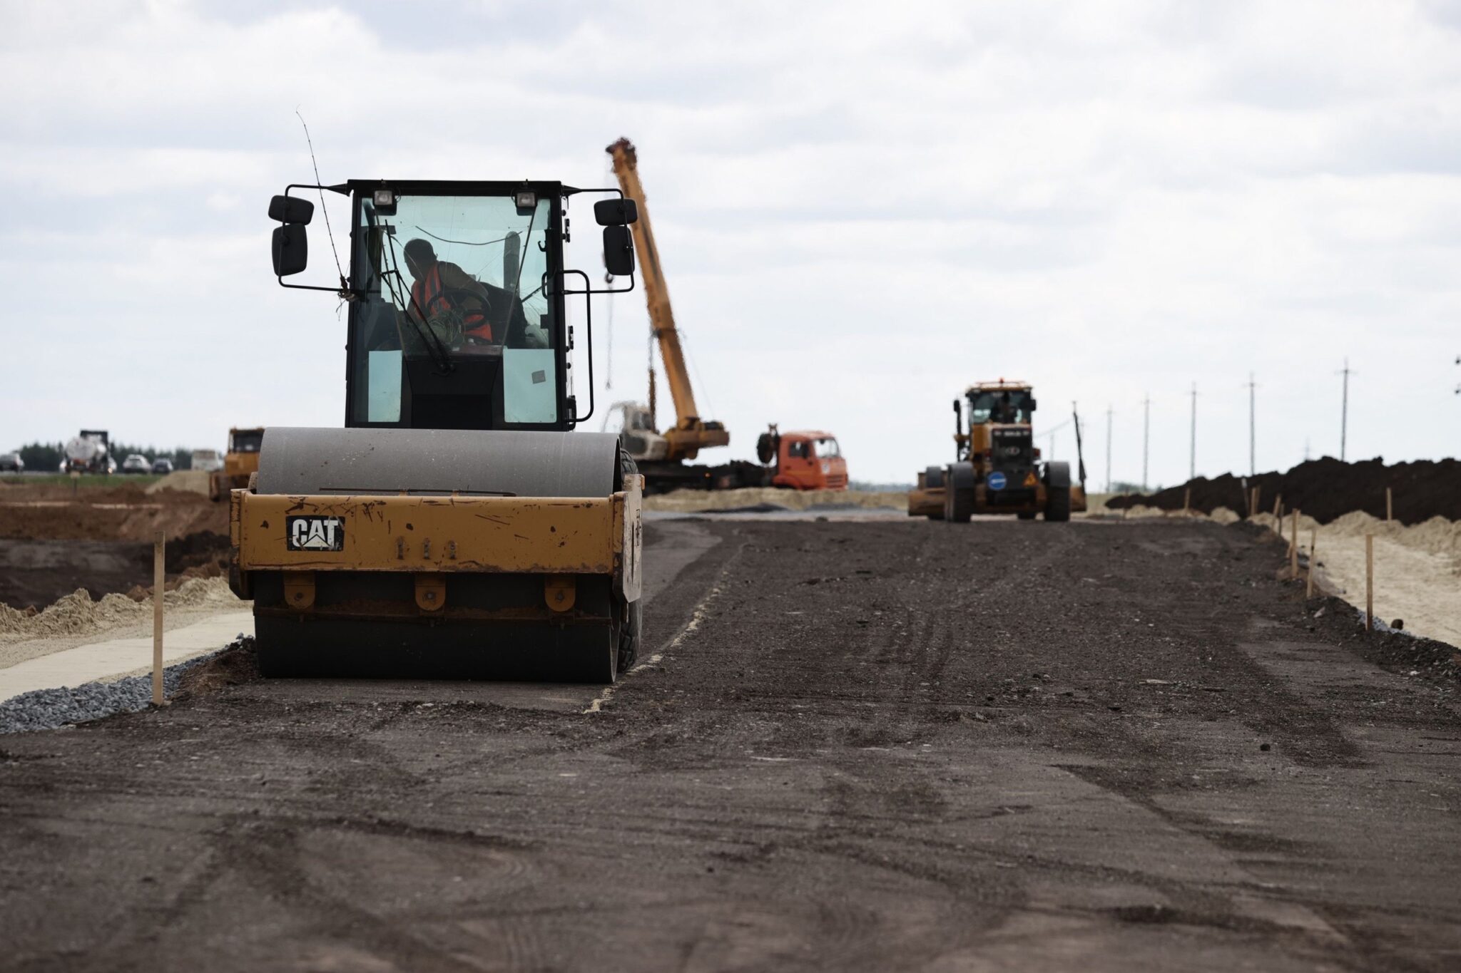
[[[603,497],[614,433],[270,426],[259,493]]]

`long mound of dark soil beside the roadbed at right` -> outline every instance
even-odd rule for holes
[[[1332,457],[1300,462],[1287,473],[1259,473],[1256,477],[1235,477],[1224,473],[1208,480],[1169,487],[1151,496],[1126,493],[1106,502],[1122,509],[1143,503],[1163,511],[1180,511],[1183,495],[1192,489],[1192,509],[1211,513],[1226,506],[1246,515],[1246,490],[1258,487],[1258,511],[1273,512],[1281,496],[1284,509],[1299,508],[1308,516],[1327,524],[1350,511],[1365,511],[1385,516],[1385,487],[1394,492],[1395,519],[1420,524],[1432,516],[1461,521],[1461,461],[1420,460],[1386,467],[1384,460],[1340,462]]]

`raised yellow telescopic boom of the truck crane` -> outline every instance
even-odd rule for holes
[[[665,430],[669,442],[669,460],[694,460],[707,446],[725,446],[730,433],[717,422],[706,422],[695,408],[695,392],[690,385],[690,371],[679,347],[679,333],[675,330],[675,314],[669,306],[669,289],[665,286],[665,270],[655,247],[655,232],[650,229],[649,204],[644,201],[644,187],[638,178],[638,159],[634,143],[619,139],[605,149],[614,159],[614,175],[619,190],[638,206],[638,222],[630,225],[634,245],[640,252],[644,283],[644,301],[649,305],[649,322],[659,343],[659,354],[665,362],[665,379],[675,403],[675,427]],[[652,392],[653,394],[653,392]]]

